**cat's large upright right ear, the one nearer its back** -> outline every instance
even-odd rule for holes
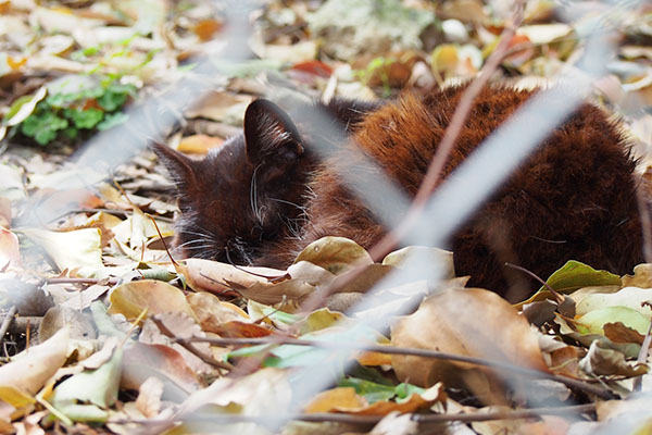
[[[265,181],[281,176],[303,154],[301,135],[290,116],[272,101],[258,99],[244,112],[247,159]]]

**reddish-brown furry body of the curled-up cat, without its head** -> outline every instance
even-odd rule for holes
[[[413,196],[465,89],[405,95],[366,116],[353,142]],[[442,179],[531,95],[505,87],[485,88],[472,104]],[[527,132],[528,126],[523,126],[523,134]],[[472,275],[472,285],[504,295],[518,281],[509,277],[514,271],[505,270],[507,261],[541,276],[568,259],[616,273],[630,272],[641,260],[634,171],[635,161],[618,125],[599,108],[580,105],[453,235],[450,247],[457,273]],[[337,234],[368,248],[386,228],[365,212],[362,202],[346,194],[337,179],[334,170],[315,177],[314,234],[309,239]]]

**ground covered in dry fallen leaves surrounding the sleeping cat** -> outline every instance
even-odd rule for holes
[[[512,3],[269,1],[247,16],[259,59],[215,62],[208,78],[199,60],[234,42],[220,2],[0,1],[0,432],[648,430],[650,264],[620,277],[570,261],[510,306],[465,288],[453,253],[427,247],[374,262],[325,237],[287,270],[172,261],[177,209],[151,153],[111,173],[66,158],[97,111],[129,135],[130,108],[179,79],[209,88],[163,128],[196,154],[275,88],[378,99],[468,79],[512,26]],[[547,84],[617,18],[594,97],[644,164],[652,10],[591,3],[579,20],[565,3],[526,2],[496,79]],[[46,139],[55,146],[35,146]],[[442,265],[443,281],[393,281],[412,256]]]

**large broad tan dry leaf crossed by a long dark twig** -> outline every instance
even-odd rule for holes
[[[397,322],[391,341],[548,370],[527,320],[500,296],[479,288],[448,289],[428,297],[415,313]],[[460,369],[491,373],[467,363],[409,356],[393,356],[392,366],[399,380],[421,386],[459,383]]]

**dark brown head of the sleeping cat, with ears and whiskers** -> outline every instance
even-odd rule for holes
[[[154,145],[176,186],[175,256],[249,264],[301,219],[312,158],[294,123],[259,99],[243,133],[193,160]]]

